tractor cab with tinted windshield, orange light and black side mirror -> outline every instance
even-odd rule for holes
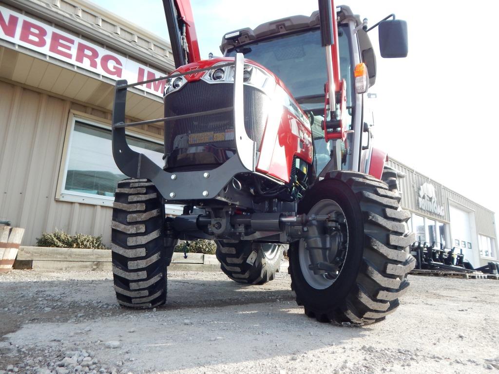
[[[324,53],[324,33],[327,22],[320,21],[320,10],[309,17],[296,15],[263,23],[255,29],[242,28],[224,35],[220,46],[224,56],[243,53],[246,58],[260,63],[278,76],[291,95],[307,114],[313,134],[314,169],[320,175],[327,170],[353,170],[370,174],[372,135],[363,118],[363,94],[376,81],[376,57],[367,32],[379,26],[381,55],[383,57],[405,57],[407,55],[407,29],[405,22],[389,20],[393,14],[371,28],[367,19],[361,20],[348,6],[335,8],[337,17],[338,47],[333,56],[333,69]],[[327,14],[322,9],[323,14]],[[322,31],[321,31],[322,30]],[[337,58],[337,66],[334,58]],[[333,112],[338,108],[328,107],[328,82],[339,75],[345,82],[346,105],[341,115],[341,124],[327,126]],[[338,85],[338,84],[337,84]],[[339,90],[335,87],[336,91]],[[333,96],[329,92],[329,97]],[[338,97],[340,100],[341,97]],[[336,113],[338,116],[338,113]],[[334,121],[333,121],[334,122]],[[326,128],[326,134],[324,129]],[[341,136],[332,134],[342,132]],[[365,139],[363,139],[365,138]],[[332,161],[332,162],[331,162]],[[376,177],[379,178],[378,175]]]

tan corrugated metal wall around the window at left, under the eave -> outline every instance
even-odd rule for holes
[[[23,245],[56,228],[103,235],[110,242],[107,206],[55,200],[68,115],[71,109],[109,119],[83,107],[0,81],[0,219],[24,227]]]

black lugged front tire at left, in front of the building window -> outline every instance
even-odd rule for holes
[[[113,204],[111,249],[118,303],[154,308],[166,301],[165,205],[151,181],[118,183]]]

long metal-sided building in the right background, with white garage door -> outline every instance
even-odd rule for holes
[[[401,174],[398,178],[401,205],[412,213],[409,227],[417,241],[455,247],[474,267],[498,261],[493,211],[397,160],[390,159],[389,165]]]

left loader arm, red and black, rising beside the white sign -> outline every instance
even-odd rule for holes
[[[201,60],[189,0],[163,0],[175,67]]]

